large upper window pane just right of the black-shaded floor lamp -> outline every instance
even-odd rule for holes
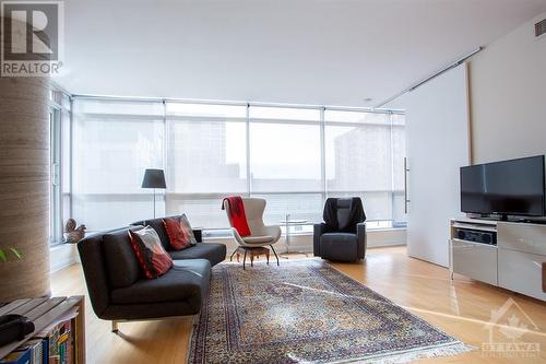
[[[170,121],[169,191],[247,191],[246,125],[224,121]]]

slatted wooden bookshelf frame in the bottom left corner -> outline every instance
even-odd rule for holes
[[[0,348],[0,359],[23,345],[26,341],[47,329],[64,315],[75,308],[76,315],[72,318],[74,334],[74,362],[85,364],[85,300],[83,296],[71,297],[40,297],[13,301],[0,307],[0,316],[16,314],[26,316],[34,322],[34,332],[23,340],[9,343]]]

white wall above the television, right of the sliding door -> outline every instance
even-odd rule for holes
[[[474,163],[546,152],[546,36],[535,21],[488,45],[470,67]]]

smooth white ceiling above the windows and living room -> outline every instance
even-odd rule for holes
[[[72,93],[371,106],[546,0],[69,0],[64,11],[56,81]]]

